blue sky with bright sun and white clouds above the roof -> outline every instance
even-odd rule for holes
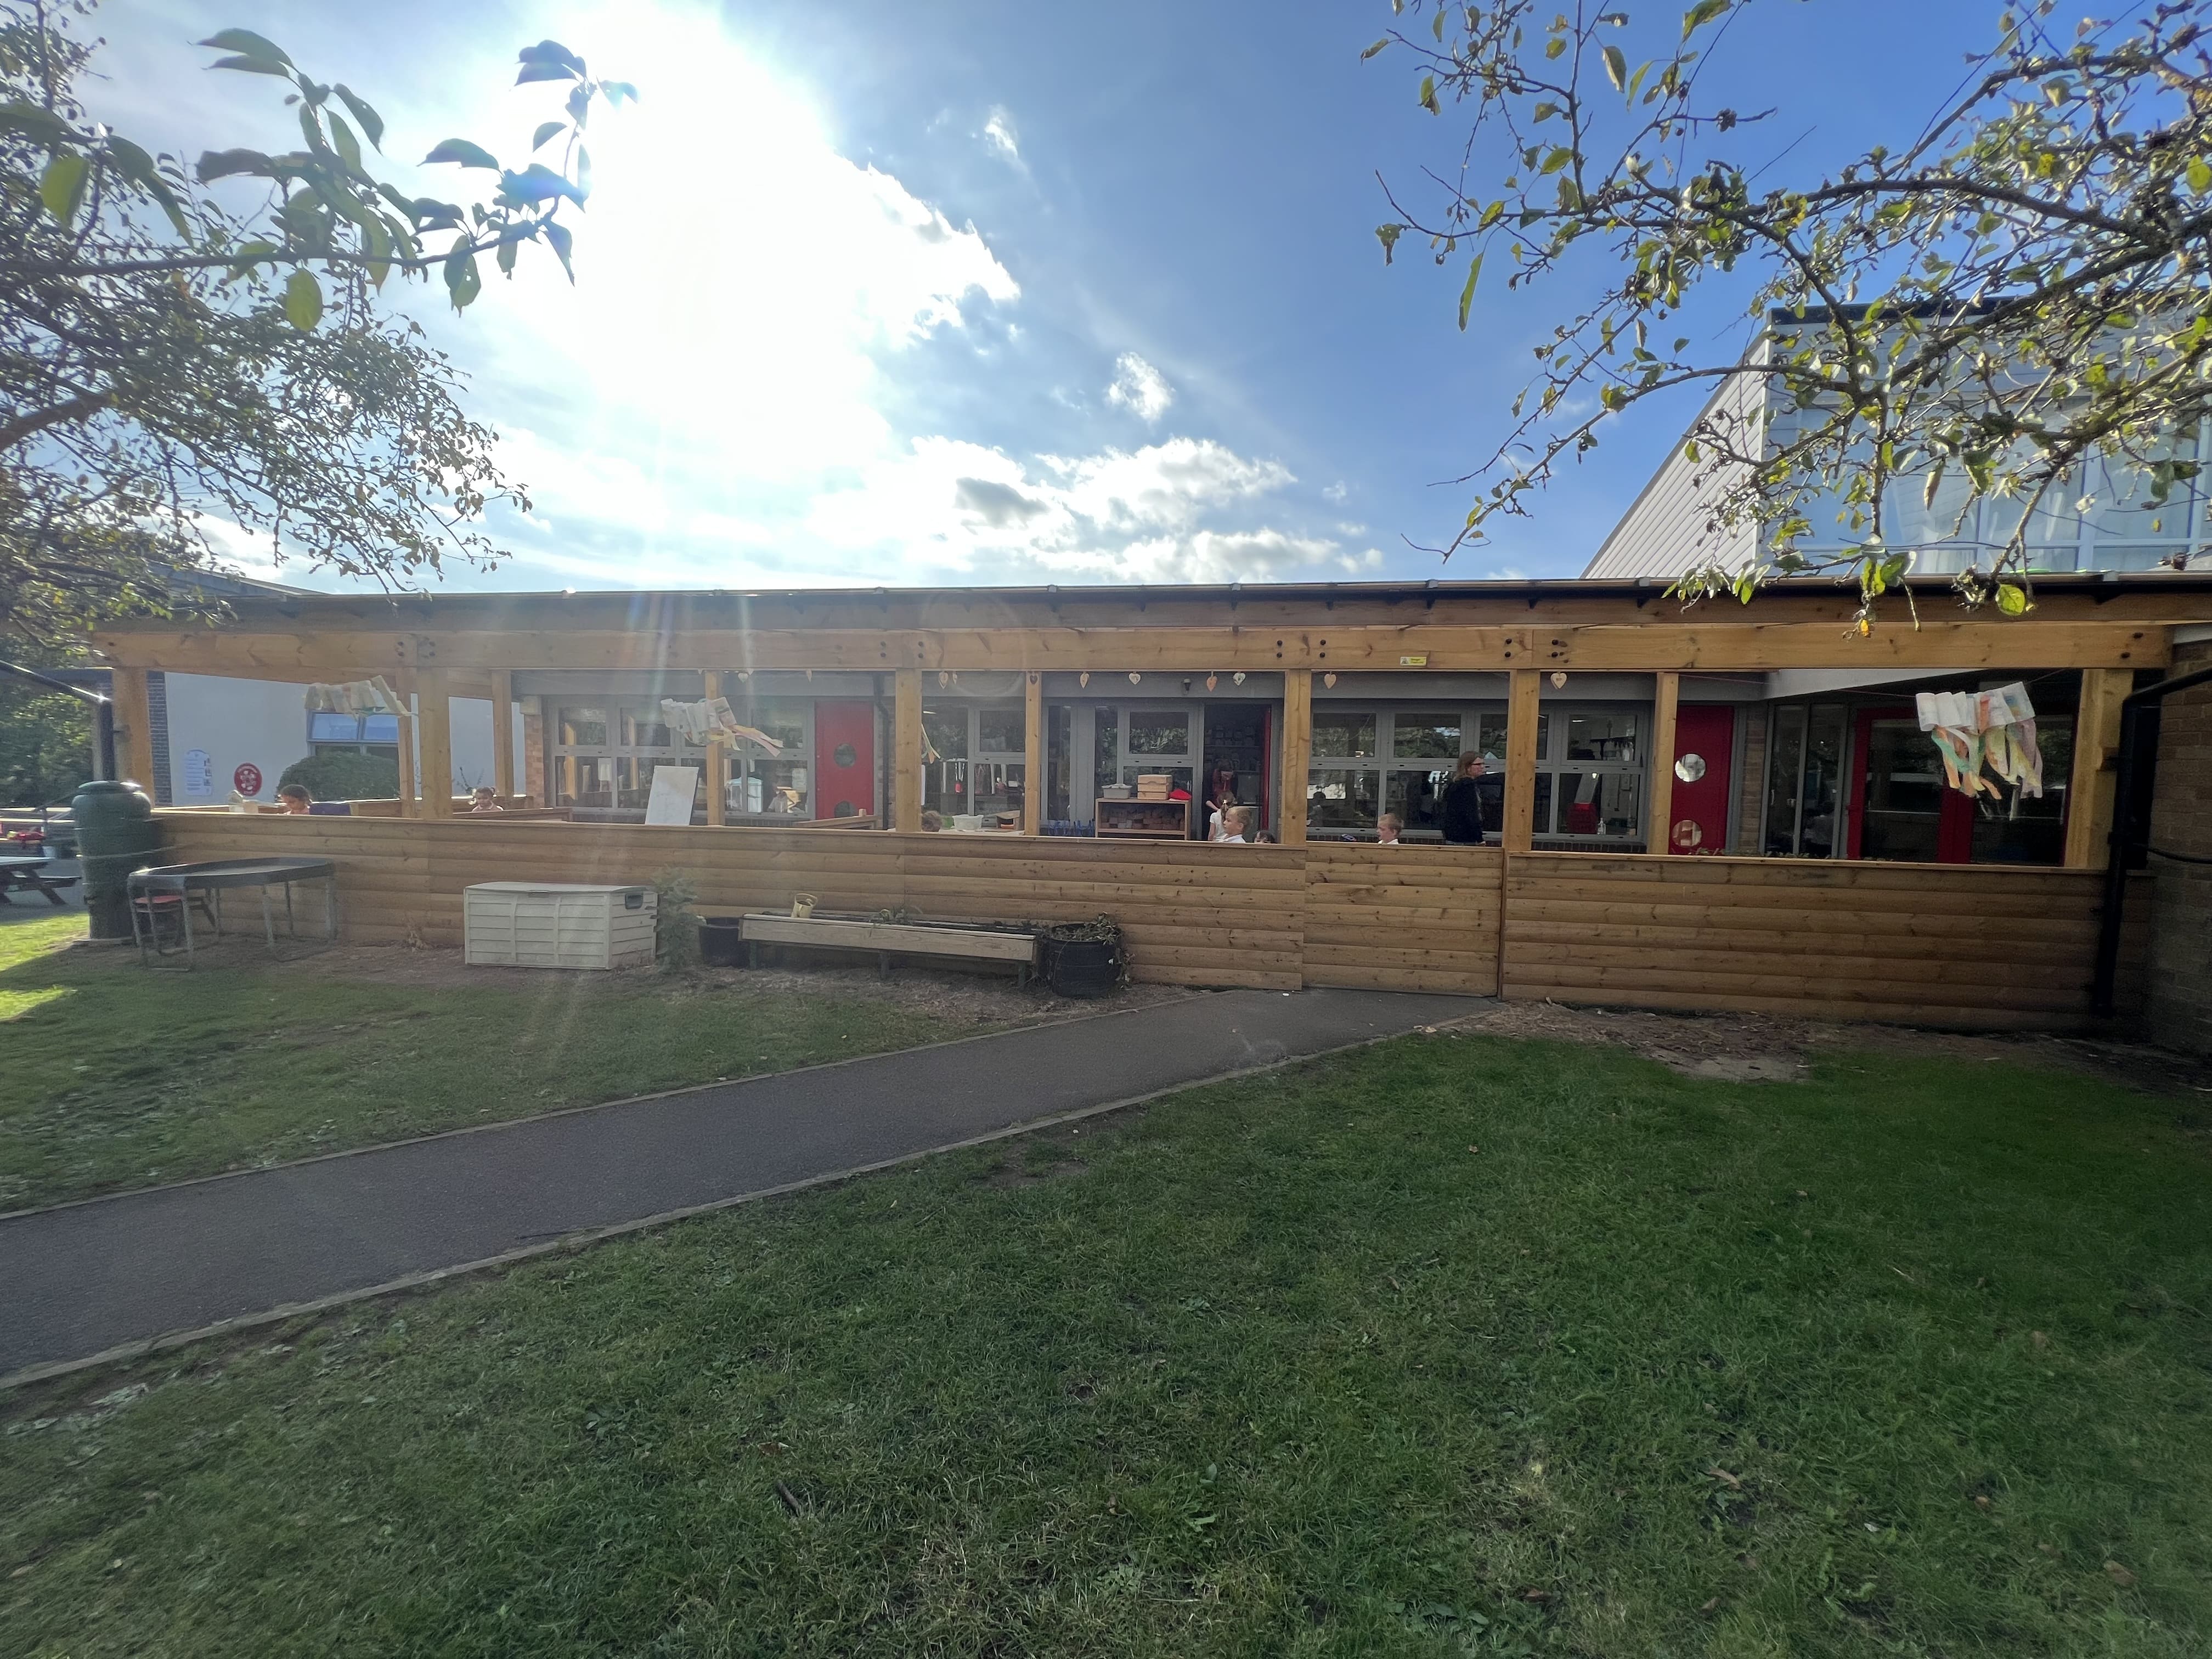
[[[1679,27],[1626,4],[1648,42]],[[1761,0],[1712,84],[1778,108],[1754,148],[1827,166],[1909,137],[1995,15]],[[1489,281],[1460,334],[1462,270],[1383,265],[1376,173],[1413,181],[1462,131],[1413,106],[1407,60],[1360,62],[1387,22],[1387,0],[111,0],[91,104],[153,148],[288,148],[276,82],[188,44],[250,27],[367,95],[403,186],[451,199],[453,170],[405,164],[451,135],[520,157],[555,113],[509,86],[520,44],[637,82],[595,131],[573,290],[524,261],[462,319],[405,301],[538,507],[495,524],[509,562],[447,586],[1575,575],[1694,409],[1619,422],[1449,566],[1409,546],[1464,515],[1440,480],[1491,451],[1597,272]],[[1683,332],[1741,338],[1734,299]]]

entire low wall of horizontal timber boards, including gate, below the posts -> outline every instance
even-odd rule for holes
[[[356,940],[460,942],[480,880],[681,869],[703,914],[1108,914],[1166,984],[1338,984],[1944,1026],[2088,1024],[2097,872],[164,812],[177,858],[316,852]],[[2143,922],[2130,898],[2124,995]],[[1502,980],[1500,980],[1502,969]]]

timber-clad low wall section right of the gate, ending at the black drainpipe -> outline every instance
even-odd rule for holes
[[[1528,854],[1509,998],[2015,1029],[2088,1020],[2101,876]]]

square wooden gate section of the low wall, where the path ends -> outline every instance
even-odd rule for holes
[[[1498,993],[1498,847],[1305,847],[1305,982]]]

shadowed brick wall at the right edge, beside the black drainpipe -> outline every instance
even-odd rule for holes
[[[2174,648],[2174,675],[2199,668],[2212,668],[2212,641]],[[2212,858],[2212,686],[2166,699],[2150,845]],[[2212,1053],[2212,865],[2152,858],[2150,876],[2150,1040]]]

